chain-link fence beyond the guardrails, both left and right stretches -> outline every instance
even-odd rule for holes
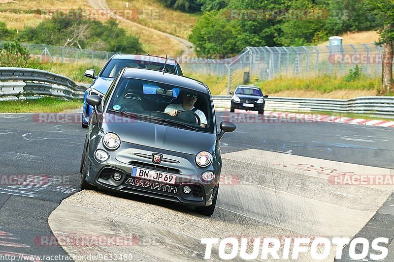
[[[4,41],[0,41],[0,45]],[[87,63],[102,65],[114,53],[78,48],[23,44],[33,57],[43,62]],[[165,57],[165,55],[162,55]],[[227,78],[230,90],[237,85],[275,77],[313,77],[322,74],[344,76],[358,66],[368,77],[381,75],[382,47],[370,44],[300,47],[247,47],[226,59],[206,59],[196,55],[171,56],[185,74],[213,75]],[[218,56],[220,57],[220,56]],[[223,56],[225,57],[225,56]]]

